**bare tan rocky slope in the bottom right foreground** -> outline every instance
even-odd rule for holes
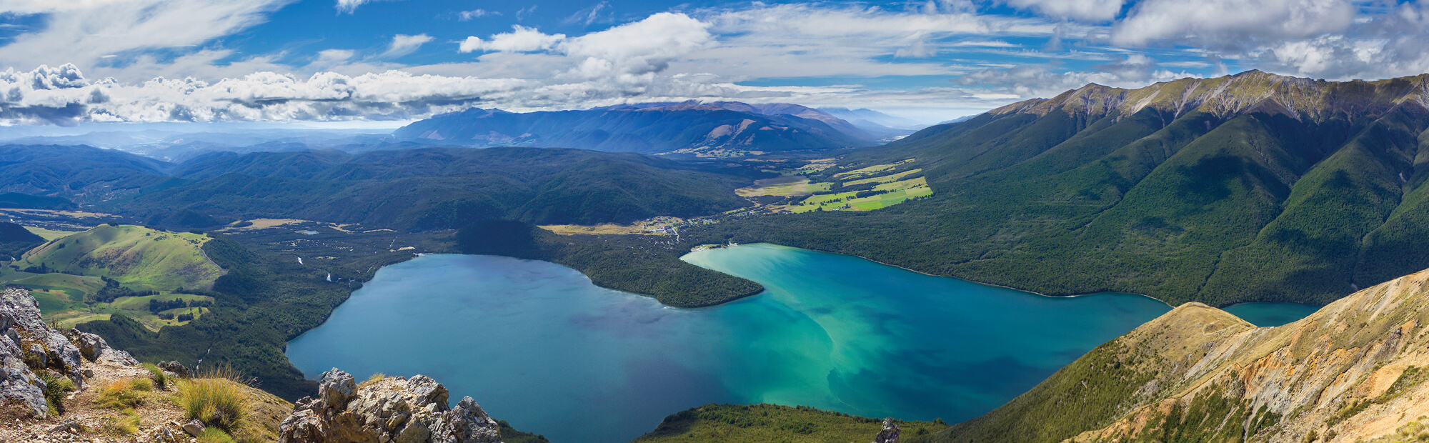
[[[1186,303],[942,442],[1356,442],[1429,414],[1429,270],[1280,327]]]

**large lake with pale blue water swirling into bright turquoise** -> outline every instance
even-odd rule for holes
[[[427,374],[552,442],[629,442],[706,403],[960,422],[1170,310],[772,244],[684,260],[767,290],[673,309],[553,263],[423,256],[379,270],[287,356],[309,377],[334,366],[359,380]]]

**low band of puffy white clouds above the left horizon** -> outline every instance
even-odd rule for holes
[[[527,86],[526,80],[413,76],[307,79],[272,71],[214,83],[153,79],[139,84],[89,80],[73,64],[0,71],[0,120],[30,124],[79,121],[237,121],[413,119],[456,110]]]

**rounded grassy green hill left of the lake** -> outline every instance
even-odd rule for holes
[[[11,266],[104,276],[136,290],[210,289],[223,274],[200,250],[207,236],[101,224],[51,240]]]

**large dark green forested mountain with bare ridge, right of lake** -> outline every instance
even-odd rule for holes
[[[1049,294],[1329,303],[1429,267],[1426,90],[1429,74],[1089,84],[823,173],[916,159],[930,199],[720,229]]]

